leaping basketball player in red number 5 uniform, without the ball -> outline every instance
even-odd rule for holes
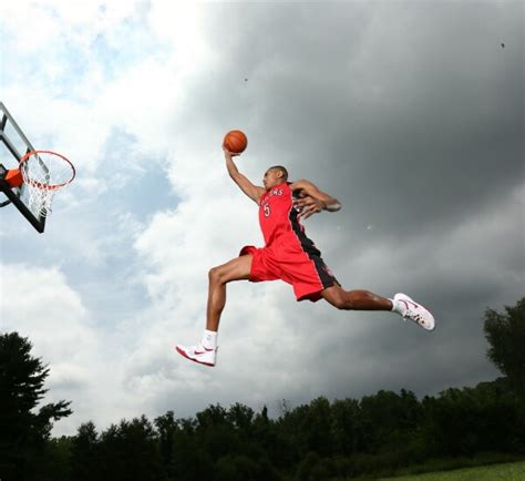
[[[311,182],[288,182],[288,173],[282,166],[268,168],[262,180],[264,187],[256,186],[235,165],[231,157],[238,154],[224,146],[223,150],[230,177],[259,205],[265,246],[246,246],[239,257],[209,270],[204,336],[194,346],[176,346],[181,355],[205,366],[215,366],[226,285],[241,279],[253,283],[281,279],[291,284],[297,300],[325,299],[338,309],[393,311],[426,330],[434,329],[432,314],[405,294],[395,294],[389,299],[368,290],[342,289],[300,223],[301,218],[321,211],[339,211],[339,201],[319,191]]]

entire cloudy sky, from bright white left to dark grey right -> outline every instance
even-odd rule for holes
[[[48,400],[73,402],[56,434],[498,375],[483,313],[525,294],[523,2],[0,10],[0,100],[78,167],[44,234],[0,211],[1,330],[50,365]],[[202,335],[208,269],[262,242],[224,166],[231,129],[249,137],[238,166],[254,182],[280,163],[342,202],[306,225],[346,288],[406,293],[436,330],[243,282],[218,366],[176,355]]]

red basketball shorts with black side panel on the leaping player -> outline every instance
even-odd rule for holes
[[[317,301],[321,290],[339,283],[313,246],[305,248],[299,240],[274,243],[257,248],[245,246],[239,255],[250,254],[251,272],[249,280],[284,280],[291,284],[297,300]]]

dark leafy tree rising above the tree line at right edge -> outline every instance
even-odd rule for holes
[[[505,313],[485,310],[487,357],[508,378],[512,387],[525,393],[525,297]]]

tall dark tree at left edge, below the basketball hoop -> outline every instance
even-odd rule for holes
[[[34,480],[45,443],[58,421],[71,415],[70,402],[42,406],[49,367],[31,356],[32,345],[18,332],[0,336],[0,473],[6,480]]]

